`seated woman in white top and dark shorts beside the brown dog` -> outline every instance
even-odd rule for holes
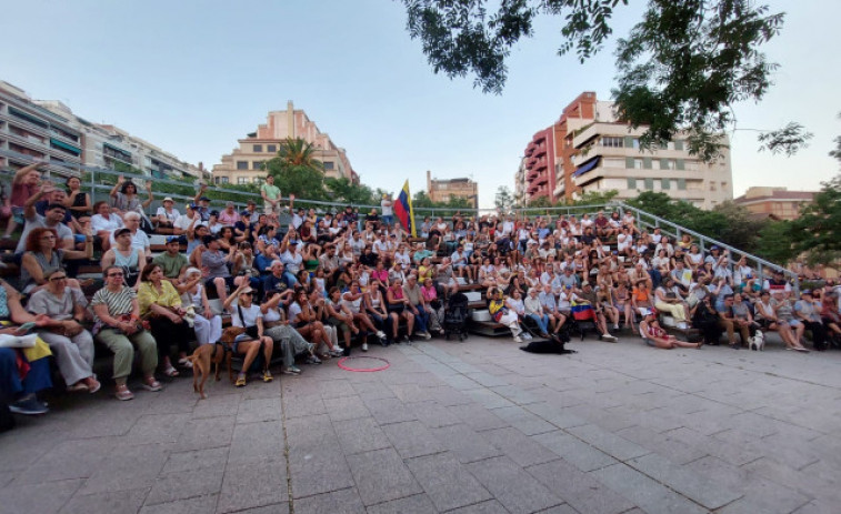
[[[271,382],[273,377],[269,371],[274,342],[263,335],[263,312],[253,303],[254,290],[243,282],[237,291],[224,301],[223,309],[231,314],[231,324],[244,331],[233,340],[233,353],[243,354],[242,369],[237,375],[237,387],[246,386],[246,374],[253,364],[260,350],[263,351],[263,382]],[[237,305],[233,305],[233,301]]]

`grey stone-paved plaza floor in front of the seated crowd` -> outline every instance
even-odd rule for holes
[[[569,347],[433,340],[206,401],[190,379],[57,399],[0,436],[0,512],[839,512],[841,353]]]

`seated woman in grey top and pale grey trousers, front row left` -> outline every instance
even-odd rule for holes
[[[93,337],[84,330],[84,308],[88,301],[78,289],[68,286],[67,273],[53,269],[46,275],[47,286],[27,302],[27,310],[44,315],[48,321],[38,335],[50,345],[68,391],[96,393],[100,383],[93,375]]]

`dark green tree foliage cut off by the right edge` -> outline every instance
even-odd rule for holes
[[[822,184],[812,203],[791,223],[791,236],[794,249],[804,253],[807,264],[838,270],[841,262],[841,175]]]

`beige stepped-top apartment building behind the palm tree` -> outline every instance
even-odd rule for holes
[[[302,110],[296,110],[291,101],[286,111],[271,111],[266,124],[257,132],[238,140],[239,148],[222,155],[222,162],[213,167],[217,184],[251,184],[266,179],[263,162],[278,155],[280,143],[288,138],[301,138],[316,148],[316,159],[324,164],[324,177],[347,178],[359,183],[344,149],[337,147],[327,133],[321,132]]]

